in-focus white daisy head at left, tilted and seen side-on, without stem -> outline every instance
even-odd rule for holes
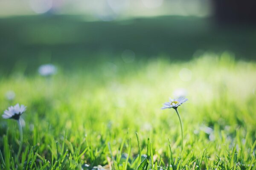
[[[16,104],[15,106],[10,106],[8,110],[5,110],[2,117],[3,119],[15,119],[19,120],[20,115],[26,111],[26,106]]]

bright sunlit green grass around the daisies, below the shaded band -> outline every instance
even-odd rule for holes
[[[0,111],[27,106],[20,157],[17,123],[0,118],[0,169],[255,169],[255,62],[228,53],[106,61],[68,70],[55,63],[48,78],[37,70],[0,78]],[[182,68],[191,80],[180,79]],[[160,110],[177,88],[189,99],[178,108],[183,150],[175,110]]]

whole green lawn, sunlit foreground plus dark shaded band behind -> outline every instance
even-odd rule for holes
[[[0,170],[255,170],[255,35],[196,17],[0,18],[0,113],[27,106],[22,144],[0,117]],[[178,94],[183,150],[160,109]]]

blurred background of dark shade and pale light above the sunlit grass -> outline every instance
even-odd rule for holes
[[[252,0],[0,0],[0,73],[205,51],[253,60],[254,8]]]

